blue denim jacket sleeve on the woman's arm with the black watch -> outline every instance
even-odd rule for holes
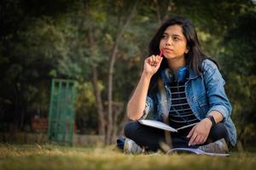
[[[224,79],[215,65],[210,59],[203,62],[203,75],[207,89],[207,98],[211,111],[218,111],[224,117],[224,121],[230,116],[232,106],[224,91]]]

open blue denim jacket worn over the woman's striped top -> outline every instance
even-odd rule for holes
[[[163,89],[165,90],[160,90],[154,95],[148,94],[142,119],[149,116],[150,119],[163,122],[164,114],[168,114],[170,111],[172,105],[171,89],[166,85],[168,81],[166,73],[161,73],[160,77],[164,82],[163,87],[165,88]],[[189,80],[185,83],[185,93],[191,110],[199,120],[204,119],[211,111],[218,111],[222,114],[224,126],[229,133],[230,143],[235,145],[236,127],[230,119],[232,107],[225,94],[224,83],[217,65],[210,59],[205,59],[202,63],[201,75],[189,70]]]

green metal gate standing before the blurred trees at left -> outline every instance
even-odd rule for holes
[[[52,80],[48,137],[59,144],[73,143],[75,84],[72,80]]]

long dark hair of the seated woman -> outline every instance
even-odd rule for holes
[[[209,57],[201,51],[200,42],[195,31],[193,24],[186,18],[177,16],[173,17],[160,26],[159,30],[156,32],[151,42],[149,43],[149,56],[160,54],[160,40],[166,31],[168,26],[181,26],[183,29],[183,35],[187,39],[187,47],[189,48],[189,53],[185,54],[186,65],[189,69],[195,71],[196,74],[200,75],[201,64],[204,59],[209,59]],[[214,63],[217,62],[211,59]],[[155,83],[158,77],[160,77],[160,71],[167,67],[167,60],[164,58],[161,62],[160,69],[151,78],[149,90],[155,87]]]

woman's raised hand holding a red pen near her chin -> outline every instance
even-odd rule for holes
[[[144,61],[144,68],[143,73],[147,74],[148,76],[152,77],[156,71],[160,68],[160,64],[163,57],[159,55],[151,55]]]

